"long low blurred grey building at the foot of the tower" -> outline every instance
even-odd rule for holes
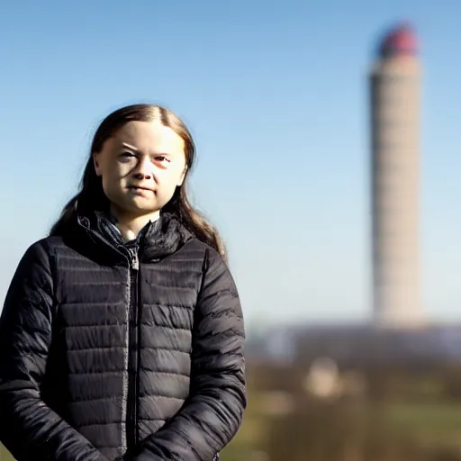
[[[311,366],[328,357],[345,368],[437,367],[461,362],[461,325],[419,329],[324,325],[298,330],[292,363]]]

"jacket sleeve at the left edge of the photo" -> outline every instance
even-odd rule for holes
[[[52,308],[50,258],[37,242],[16,269],[0,317],[0,441],[17,461],[103,461],[41,400]]]

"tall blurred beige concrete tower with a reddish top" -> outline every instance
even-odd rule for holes
[[[375,323],[410,327],[420,302],[420,60],[414,32],[384,36],[371,70]]]

